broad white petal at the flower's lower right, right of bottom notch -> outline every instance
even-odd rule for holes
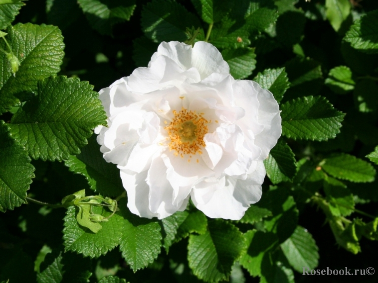
[[[211,218],[240,220],[250,204],[261,198],[261,184],[264,181],[265,168],[262,161],[256,161],[256,163],[258,163],[256,170],[248,174],[246,180],[226,176],[223,177],[225,186],[222,186],[222,178],[218,181],[218,186],[211,184],[210,189],[204,189],[205,193],[202,191],[203,188],[196,186],[191,192],[194,205]],[[211,192],[212,196],[206,202]]]

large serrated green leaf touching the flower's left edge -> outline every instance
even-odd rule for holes
[[[38,83],[38,95],[18,109],[11,133],[34,159],[67,159],[80,153],[105,112],[98,93],[77,78],[52,77]]]

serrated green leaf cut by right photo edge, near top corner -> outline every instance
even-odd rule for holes
[[[358,50],[378,53],[378,10],[371,11],[356,20],[344,40]]]

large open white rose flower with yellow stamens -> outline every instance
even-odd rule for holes
[[[108,127],[96,128],[97,141],[120,169],[131,212],[162,219],[191,197],[208,217],[238,220],[259,201],[279,106],[257,83],[233,79],[213,45],[162,42],[148,68],[100,99]]]

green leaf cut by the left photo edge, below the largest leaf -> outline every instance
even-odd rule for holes
[[[11,138],[8,127],[0,120],[0,211],[26,203],[26,190],[34,167],[24,148]]]

